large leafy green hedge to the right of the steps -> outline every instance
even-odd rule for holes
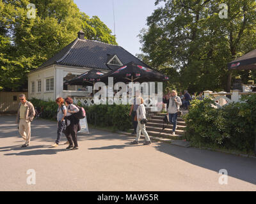
[[[186,140],[197,147],[218,147],[252,153],[256,135],[256,95],[241,103],[213,108],[210,98],[193,100],[186,120]]]

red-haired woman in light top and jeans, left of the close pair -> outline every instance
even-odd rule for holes
[[[57,113],[57,121],[58,121],[58,130],[57,130],[57,140],[54,144],[52,144],[52,147],[58,147],[61,139],[61,134],[63,130],[65,129],[65,116],[67,115],[67,107],[64,105],[64,99],[63,98],[57,98],[56,103],[58,104],[58,113]]]

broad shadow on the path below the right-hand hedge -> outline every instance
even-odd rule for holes
[[[184,148],[167,143],[157,143],[160,152],[177,157],[188,163],[219,173],[221,169],[228,171],[228,176],[256,184],[256,159],[239,157],[223,152],[201,150],[193,147]],[[256,189],[256,187],[255,187]]]

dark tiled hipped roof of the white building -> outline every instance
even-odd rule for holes
[[[58,52],[58,54],[44,62],[44,64],[42,64],[38,69],[51,64],[61,64],[66,66],[110,70],[118,67],[106,65],[109,57],[113,57],[114,55],[116,55],[123,64],[134,61],[136,64],[147,66],[147,64],[143,63],[137,57],[120,46],[77,38],[67,45],[67,47]]]

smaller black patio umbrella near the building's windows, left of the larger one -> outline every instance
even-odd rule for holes
[[[92,86],[95,84],[95,82],[100,81],[100,76],[104,75],[101,71],[97,71],[96,69],[92,69],[90,71],[86,71],[85,73],[72,78],[72,80],[69,80],[65,82],[65,85],[83,85],[83,86]]]

